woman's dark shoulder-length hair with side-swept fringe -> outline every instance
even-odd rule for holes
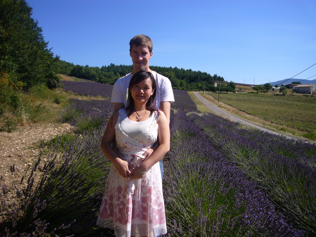
[[[128,86],[128,106],[125,108],[126,113],[128,114],[128,116],[131,115],[131,111],[134,108],[134,99],[131,95],[131,89],[134,85],[138,84],[139,82],[150,78],[151,80],[151,87],[154,89],[154,93],[149,97],[147,103],[146,103],[146,109],[150,111],[150,114],[152,112],[154,112],[156,109],[154,107],[154,99],[156,96],[156,81],[155,78],[153,76],[153,74],[151,74],[150,72],[146,72],[146,71],[138,71],[137,73],[135,73],[130,81],[130,84]]]

